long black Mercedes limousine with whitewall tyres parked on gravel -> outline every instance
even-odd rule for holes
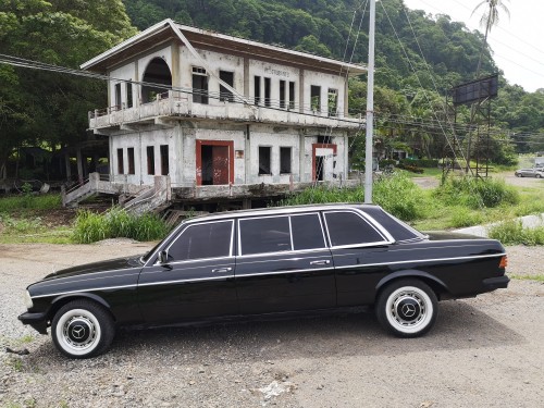
[[[426,333],[437,301],[506,288],[499,242],[422,234],[372,205],[214,213],[184,221],[141,257],[69,268],[26,290],[18,317],[72,358],[118,326],[261,319],[374,306],[400,337]]]

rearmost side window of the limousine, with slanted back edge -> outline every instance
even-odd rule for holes
[[[384,237],[372,225],[355,212],[325,212],[325,221],[333,247],[384,240]]]

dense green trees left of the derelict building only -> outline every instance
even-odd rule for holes
[[[121,0],[0,0],[0,53],[78,65],[136,33]],[[81,141],[104,84],[0,64],[0,170],[24,145]],[[0,172],[1,173],[1,172]]]

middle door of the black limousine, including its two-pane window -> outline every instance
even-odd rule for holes
[[[236,290],[244,314],[336,306],[318,212],[239,219]]]

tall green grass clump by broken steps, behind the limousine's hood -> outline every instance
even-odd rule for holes
[[[81,244],[116,237],[156,240],[162,239],[169,230],[166,223],[156,214],[134,215],[114,207],[103,214],[79,211],[74,222],[73,239]]]

